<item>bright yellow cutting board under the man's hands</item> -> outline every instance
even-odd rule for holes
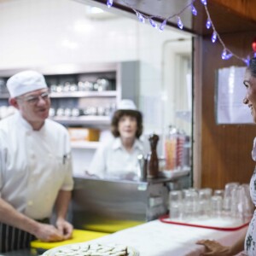
[[[73,237],[66,241],[39,241],[35,240],[31,242],[32,248],[43,248],[43,249],[51,249],[54,247],[64,246],[70,243],[90,241],[96,239],[98,237],[107,236],[108,233],[96,232],[96,231],[88,231],[88,230],[73,230]]]

